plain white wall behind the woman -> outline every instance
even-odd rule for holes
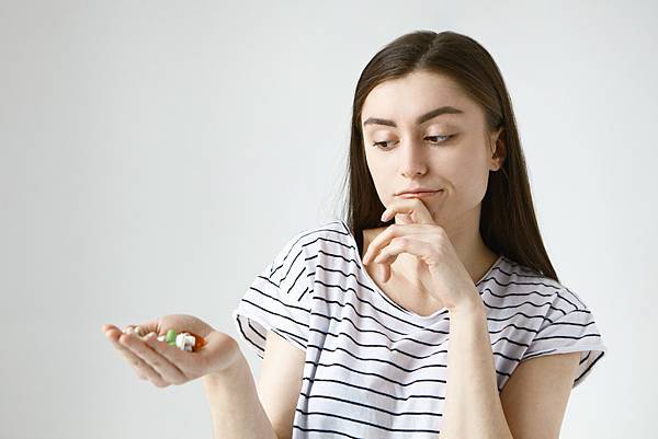
[[[138,380],[102,324],[190,313],[237,337],[256,275],[340,216],[365,63],[451,30],[502,71],[549,256],[609,348],[561,438],[651,437],[657,16],[643,1],[1,0],[0,436],[209,438],[201,381]]]

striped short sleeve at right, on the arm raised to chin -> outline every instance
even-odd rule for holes
[[[574,388],[580,384],[608,351],[591,310],[575,292],[556,292],[544,321],[521,361],[549,354],[580,353]]]

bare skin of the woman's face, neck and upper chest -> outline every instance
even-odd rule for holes
[[[417,125],[419,116],[442,106],[463,113],[442,114]],[[479,106],[450,78],[426,71],[373,89],[363,106],[362,124],[368,118],[396,124],[362,125],[366,161],[382,204],[387,206],[399,192],[417,186],[443,189],[421,200],[446,231],[473,281],[479,280],[498,258],[480,236],[479,220],[489,172],[498,171],[504,161],[501,128],[486,131]],[[395,222],[401,223],[401,218],[396,216]],[[364,254],[384,230],[386,227],[364,231]],[[413,275],[419,264],[416,256],[400,254],[390,265],[386,282],[377,264],[366,269],[392,300],[429,315],[443,304],[419,288]],[[400,291],[416,293],[401,296]]]

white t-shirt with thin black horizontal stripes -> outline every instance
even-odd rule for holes
[[[476,287],[486,307],[499,391],[520,361],[580,351],[576,386],[606,351],[578,294],[504,255]],[[440,432],[449,311],[423,316],[389,299],[365,270],[344,221],[288,240],[232,319],[261,358],[268,331],[306,353],[293,439],[417,439]]]

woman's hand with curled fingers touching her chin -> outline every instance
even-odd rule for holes
[[[481,299],[470,275],[460,261],[447,233],[434,222],[419,198],[398,198],[390,203],[382,221],[395,215],[396,223],[379,233],[363,255],[384,267],[384,281],[390,278],[390,264],[401,253],[410,253],[422,263],[417,276],[423,288],[453,312],[481,305]],[[374,258],[374,259],[373,259]]]

